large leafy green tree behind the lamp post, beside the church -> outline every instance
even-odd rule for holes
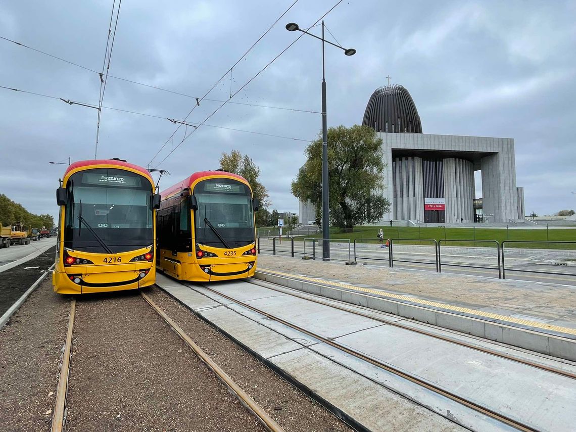
[[[306,162],[292,182],[292,194],[322,211],[322,138],[306,147]],[[340,228],[376,222],[390,208],[382,195],[382,140],[369,126],[328,128],[330,222]]]

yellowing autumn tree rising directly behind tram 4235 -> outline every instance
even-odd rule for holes
[[[272,202],[268,195],[268,191],[258,180],[258,177],[260,176],[260,168],[256,166],[254,161],[252,161],[247,154],[242,156],[242,153],[238,150],[232,150],[230,151],[230,154],[222,153],[222,156],[220,157],[220,166],[222,169],[242,176],[248,180],[254,198],[260,202],[260,210],[256,212],[256,225],[267,225],[268,217],[270,216],[267,209],[270,207]]]

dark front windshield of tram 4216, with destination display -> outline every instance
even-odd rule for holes
[[[85,252],[126,252],[153,244],[152,185],[123,169],[77,172],[67,184],[64,245]]]

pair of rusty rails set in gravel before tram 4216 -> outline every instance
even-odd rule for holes
[[[204,353],[202,348],[198,344],[194,343],[190,336],[188,336],[166,313],[164,313],[158,305],[156,305],[151,298],[140,291],[140,294],[145,300],[146,304],[149,305],[158,316],[165,321],[166,324],[179,336],[183,342],[191,348],[196,357],[200,359],[209,369],[217,376],[228,391],[234,395],[240,401],[240,404],[247,408],[251,414],[253,414],[256,419],[262,424],[264,429],[270,432],[283,432],[284,429],[271,418],[267,412],[260,407],[256,401],[252,399],[236,382],[232,380],[226,374],[221,367],[218,366],[209,355]],[[74,333],[74,322],[76,313],[76,299],[74,298],[70,304],[70,314],[69,321],[67,325],[66,338],[63,346],[62,361],[60,363],[60,372],[58,384],[56,386],[56,400],[54,405],[54,413],[52,416],[51,432],[62,432],[66,430],[66,397],[68,393],[68,384],[70,376],[70,366],[71,366],[71,353],[73,348],[73,333]]]

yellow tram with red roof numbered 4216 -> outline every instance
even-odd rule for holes
[[[156,281],[160,195],[140,166],[78,161],[56,190],[60,206],[52,286],[60,294],[137,289]]]

